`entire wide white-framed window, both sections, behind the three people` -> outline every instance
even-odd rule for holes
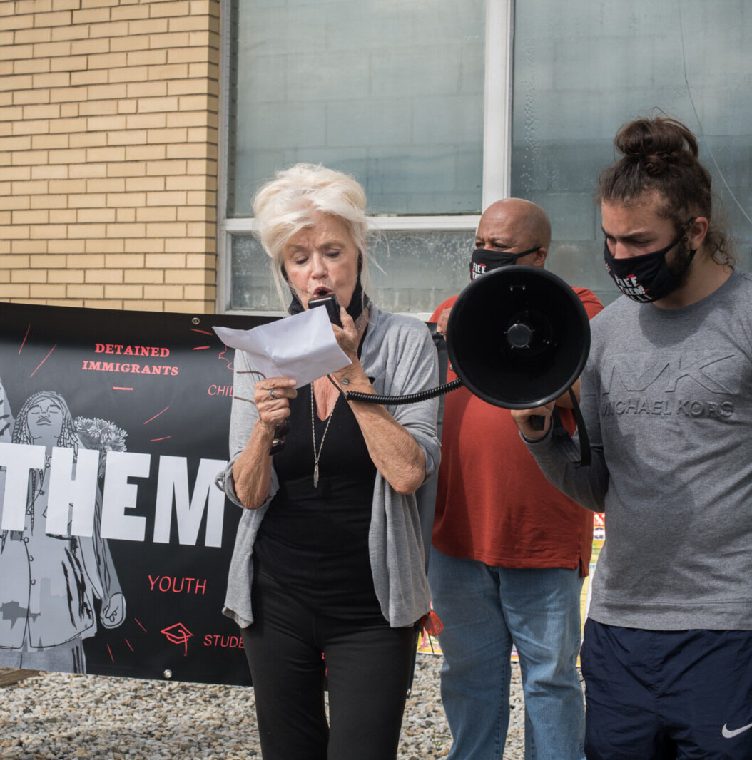
[[[478,214],[510,194],[551,217],[547,268],[611,302],[593,195],[620,125],[655,108],[697,136],[752,268],[747,0],[223,0],[222,14],[221,311],[281,312],[250,200],[297,161],[366,188],[385,309],[425,318],[458,293]]]

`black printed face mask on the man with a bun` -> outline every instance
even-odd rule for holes
[[[666,264],[666,254],[684,239],[687,227],[679,233],[665,248],[652,253],[643,253],[628,258],[614,258],[608,250],[608,241],[604,242],[603,258],[606,269],[617,288],[627,297],[638,303],[651,303],[673,293],[684,282],[684,275],[690,268],[697,249],[690,250],[687,261],[681,269],[672,272]]]

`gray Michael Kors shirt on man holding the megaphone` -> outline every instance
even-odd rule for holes
[[[591,467],[528,443],[567,496],[605,511],[589,616],[752,629],[752,276],[682,309],[622,297],[591,324]]]

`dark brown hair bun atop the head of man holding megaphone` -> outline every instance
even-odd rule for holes
[[[638,161],[646,173],[662,174],[672,165],[697,160],[694,135],[675,119],[636,119],[623,125],[614,146],[627,160]]]

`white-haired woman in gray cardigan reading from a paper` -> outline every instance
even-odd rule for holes
[[[438,401],[384,407],[344,391],[432,388],[436,352],[425,325],[366,295],[366,196],[354,179],[298,164],[253,207],[288,310],[334,294],[332,329],[351,364],[296,391],[236,353],[224,487],[246,511],[224,613],[243,635],[265,760],[388,760],[430,609],[415,491],[439,464]],[[284,448],[270,454],[284,423]]]

